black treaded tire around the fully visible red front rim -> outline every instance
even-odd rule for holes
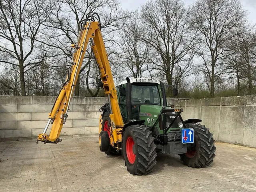
[[[122,150],[125,165],[130,174],[148,174],[154,169],[157,154],[154,137],[151,133],[152,132],[148,130],[146,125],[128,126],[125,129],[122,139]],[[132,152],[135,154],[134,163],[128,160],[128,152],[126,149],[128,138],[132,138],[134,142],[132,146]]]

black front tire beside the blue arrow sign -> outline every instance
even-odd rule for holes
[[[180,154],[180,160],[188,167],[202,168],[210,165],[215,157],[213,134],[204,125],[190,123],[187,128],[194,128],[194,144],[188,146],[186,154]],[[194,154],[192,156],[191,154]]]

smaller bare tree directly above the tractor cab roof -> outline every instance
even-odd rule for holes
[[[133,78],[142,78],[150,59],[150,44],[142,41],[145,34],[138,10],[131,12],[130,16],[121,20],[118,31],[121,50],[118,55],[120,68],[127,69]]]

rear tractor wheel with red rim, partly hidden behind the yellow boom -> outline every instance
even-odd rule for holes
[[[109,139],[111,137],[110,126],[111,126],[111,122],[110,122],[109,113],[105,112],[103,114],[103,117],[102,117],[102,128],[101,128],[101,130],[108,132]],[[111,145],[109,145],[108,150],[106,150],[105,153],[107,155],[120,155],[120,152],[117,152],[116,149],[114,149]]]

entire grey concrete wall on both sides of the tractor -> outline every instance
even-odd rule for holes
[[[0,96],[0,139],[36,137],[48,121],[55,96]],[[73,97],[61,135],[98,133],[102,97]],[[168,99],[183,106],[183,119],[200,118],[217,141],[256,147],[256,95]],[[51,128],[51,124],[49,126]],[[49,134],[48,129],[47,134]]]

